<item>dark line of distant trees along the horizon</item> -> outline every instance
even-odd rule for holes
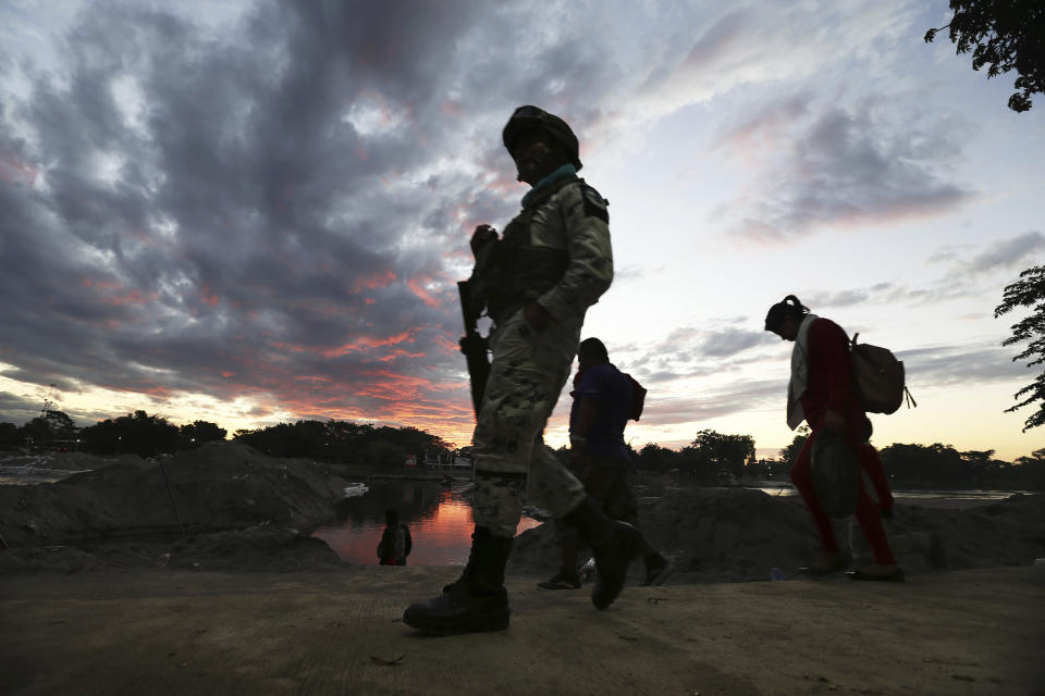
[[[160,415],[135,411],[95,425],[77,427],[62,411],[46,410],[24,425],[0,423],[0,449],[76,449],[93,455],[134,453],[140,457],[173,453],[225,439],[214,423],[195,421],[174,425]],[[776,459],[757,459],[754,438],[702,430],[687,446],[675,450],[649,444],[632,450],[635,469],[677,473],[703,484],[730,484],[741,478],[787,481],[790,463],[806,444],[809,428],[799,428]],[[453,447],[416,427],[374,426],[347,421],[302,420],[256,430],[238,430],[233,439],[266,455],[361,463],[376,468],[403,467],[413,455],[447,453]],[[565,451],[561,452],[568,457]],[[950,445],[894,444],[880,451],[882,465],[895,486],[1045,489],[1045,448],[1015,462],[994,458],[995,450],[959,451]]]

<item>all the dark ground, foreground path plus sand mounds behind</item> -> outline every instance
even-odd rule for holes
[[[800,500],[641,480],[666,585],[635,586],[634,563],[608,611],[587,588],[540,593],[557,560],[544,524],[516,539],[512,627],[438,639],[402,612],[459,569],[353,566],[309,536],[352,472],[234,443],[162,468],[77,457],[91,471],[0,486],[3,694],[1045,696],[1043,495],[899,505],[903,585],[749,582],[808,561]]]

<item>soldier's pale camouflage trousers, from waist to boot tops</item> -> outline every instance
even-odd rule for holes
[[[490,336],[493,364],[472,437],[472,518],[512,538],[522,515],[527,480],[556,518],[585,499],[585,487],[544,444],[543,431],[569,377],[581,319],[534,332],[517,311]]]

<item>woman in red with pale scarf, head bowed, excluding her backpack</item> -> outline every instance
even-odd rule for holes
[[[845,569],[847,558],[838,547],[831,517],[824,511],[813,487],[813,447],[817,437],[839,435],[855,450],[860,469],[872,476],[876,473],[877,460],[877,452],[868,442],[871,421],[853,385],[849,338],[838,324],[810,313],[794,295],[770,308],[765,315],[765,331],[795,343],[787,388],[787,424],[795,430],[804,420],[812,428],[790,472],[821,542],[816,559],[802,571],[810,575],[838,572]],[[871,546],[874,563],[850,572],[849,577],[903,582],[903,571],[889,548],[878,506],[864,488],[863,476],[857,478],[856,517]]]

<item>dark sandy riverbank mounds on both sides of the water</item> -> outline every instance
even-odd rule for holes
[[[77,457],[70,465],[99,463]],[[0,574],[345,568],[309,532],[336,515],[342,489],[357,480],[349,468],[226,443],[182,452],[162,468],[120,460],[56,484],[0,486],[0,535],[10,546],[0,552]],[[675,562],[675,582],[765,580],[771,568],[790,575],[809,560],[813,527],[796,497],[640,483],[641,524]],[[970,509],[901,502],[888,526],[909,573],[932,568],[924,539],[933,535],[947,569],[1025,566],[1045,557],[1045,495]],[[509,571],[549,573],[557,556],[552,525],[541,525],[517,538]]]

